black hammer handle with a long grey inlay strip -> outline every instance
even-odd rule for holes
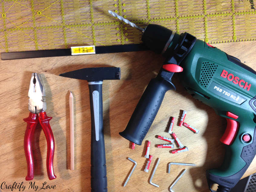
[[[91,109],[91,191],[107,192],[102,114],[102,81],[88,82]]]

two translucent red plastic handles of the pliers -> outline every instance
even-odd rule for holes
[[[24,137],[24,150],[28,165],[28,174],[26,176],[27,181],[32,180],[34,178],[34,158],[32,154],[32,140],[38,121],[42,126],[47,141],[46,167],[48,178],[50,180],[56,178],[53,171],[54,136],[49,123],[51,118],[52,117],[48,117],[45,112],[41,112],[39,114],[33,114],[30,112],[28,118],[23,119],[25,122],[27,122],[27,128]]]

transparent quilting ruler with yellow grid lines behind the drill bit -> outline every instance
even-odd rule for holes
[[[145,27],[159,24],[208,43],[256,40],[253,0],[1,0],[0,52],[141,43],[141,32],[108,10]]]

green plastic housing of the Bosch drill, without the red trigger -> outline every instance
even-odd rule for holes
[[[256,151],[256,148],[251,146],[255,130],[255,111],[249,104],[256,95],[255,73],[229,61],[225,52],[212,48],[201,40],[196,41],[180,66],[183,72],[179,73],[179,78],[194,98],[212,107],[219,116],[238,122],[233,141],[226,145],[222,166],[209,170],[209,173],[220,177],[238,173],[247,163],[241,158],[243,148],[250,147],[251,151],[248,151],[247,155],[253,155],[252,159],[255,155],[253,151]],[[238,118],[228,117],[227,111]],[[243,141],[244,134],[251,136],[249,142]]]

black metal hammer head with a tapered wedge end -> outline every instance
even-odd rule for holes
[[[60,76],[87,81],[103,81],[120,79],[121,71],[119,67],[93,67],[62,73]]]

